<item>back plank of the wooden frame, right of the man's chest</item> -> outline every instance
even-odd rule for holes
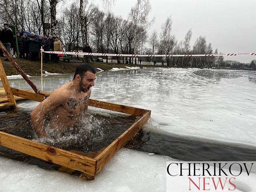
[[[148,112],[148,110],[146,109],[119,105],[115,103],[109,103],[109,102],[93,100],[93,99],[89,99],[89,106],[108,109],[111,111],[117,111],[117,112],[126,113],[130,115],[135,115],[135,116],[143,116],[143,114]]]

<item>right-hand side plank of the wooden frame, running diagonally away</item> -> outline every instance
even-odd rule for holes
[[[142,116],[136,123],[134,123],[129,129],[127,129],[122,135],[114,140],[106,149],[104,149],[95,159],[98,160],[96,173],[98,173],[102,167],[108,162],[108,160],[124,146],[124,144],[132,138],[132,136],[140,130],[140,128],[150,118],[150,111]]]

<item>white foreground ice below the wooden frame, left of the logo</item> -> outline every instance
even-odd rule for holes
[[[92,181],[0,157],[0,191],[163,192],[167,156],[120,149]]]

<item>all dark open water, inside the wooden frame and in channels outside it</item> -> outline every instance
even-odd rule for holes
[[[31,110],[6,110],[0,113],[0,131],[33,140],[34,132],[30,123]],[[138,118],[127,115],[104,116],[90,114],[89,120],[73,127],[72,135],[59,139],[39,140],[54,147],[82,152],[98,151],[107,147]],[[81,128],[82,127],[82,128]],[[75,130],[75,131],[74,131]],[[36,140],[38,141],[38,140]],[[126,148],[171,156],[184,161],[256,161],[256,147],[214,140],[202,140],[182,136],[168,136],[140,130],[125,145]],[[0,156],[36,164],[46,169],[60,168],[59,165],[45,162],[12,149],[0,146]]]

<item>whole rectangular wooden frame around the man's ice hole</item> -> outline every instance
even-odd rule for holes
[[[44,100],[44,95],[50,94],[40,95],[15,88],[11,88],[11,90],[13,95],[39,102]],[[86,180],[92,180],[102,170],[109,159],[148,121],[151,111],[92,99],[89,100],[89,106],[140,116],[140,119],[132,124],[130,128],[114,140],[107,148],[103,148],[99,153],[89,152],[90,154],[88,153],[87,156],[83,153],[66,151],[5,132],[0,132],[0,145],[54,164],[59,164],[69,170],[81,171],[84,174],[80,177]]]

